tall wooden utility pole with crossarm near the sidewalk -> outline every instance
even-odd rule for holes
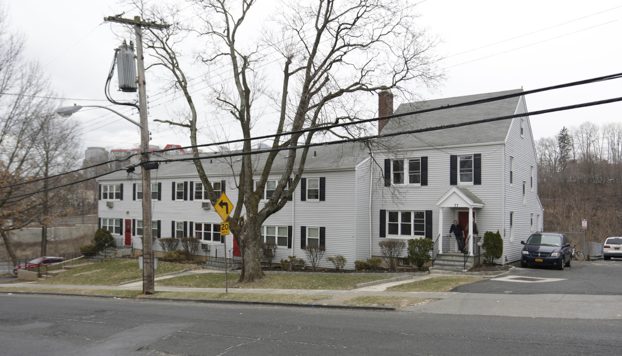
[[[151,172],[145,167],[149,162],[149,128],[147,128],[147,90],[145,82],[145,64],[142,55],[142,27],[165,29],[169,25],[154,24],[141,21],[140,16],[134,19],[121,19],[121,17],[108,16],[104,21],[119,22],[134,26],[136,32],[136,64],[138,74],[138,97],[139,111],[141,114],[141,175],[142,175],[142,293],[154,294],[154,254],[152,248],[151,228]]]

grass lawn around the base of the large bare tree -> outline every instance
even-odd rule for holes
[[[387,276],[366,276],[356,274],[266,274],[255,283],[238,284],[239,274],[230,274],[230,288],[268,289],[355,289],[356,284],[386,279]],[[225,288],[224,273],[206,273],[156,281],[158,286]]]

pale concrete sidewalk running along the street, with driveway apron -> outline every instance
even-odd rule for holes
[[[189,271],[183,274],[211,273],[210,271]],[[218,273],[218,272],[216,272]],[[164,276],[157,278],[171,278]],[[562,317],[568,319],[622,319],[622,296],[601,296],[585,294],[486,294],[454,292],[391,292],[387,288],[397,284],[432,278],[432,276],[414,276],[412,279],[391,281],[364,288],[351,290],[318,289],[254,289],[229,288],[229,293],[256,294],[307,294],[326,296],[315,305],[341,305],[344,301],[358,296],[401,296],[429,299],[425,304],[401,309],[404,312],[425,314],[459,314],[481,316],[513,317]],[[75,286],[54,284],[13,283],[0,284],[0,291],[6,288],[49,288],[58,289],[106,289],[106,290],[142,290],[142,283],[135,282],[123,286]],[[156,291],[225,293],[225,288],[184,288],[158,286]]]

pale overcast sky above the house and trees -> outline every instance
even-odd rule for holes
[[[147,0],[154,2],[156,0]],[[259,1],[271,3],[270,0]],[[417,9],[422,26],[442,39],[437,53],[447,78],[438,91],[423,89],[425,99],[523,88],[532,90],[622,72],[620,0],[425,0]],[[127,11],[115,0],[4,1],[10,28],[26,36],[26,55],[38,60],[50,77],[58,106],[108,105],[104,83],[121,25],[103,18]],[[200,73],[197,73],[200,75]],[[147,88],[155,90],[149,82]],[[115,89],[114,87],[112,88]],[[119,99],[128,98],[114,93]],[[167,119],[170,97],[150,91],[150,119]],[[207,95],[207,92],[205,93]],[[622,96],[621,80],[526,96],[529,111]],[[396,98],[397,104],[401,98]],[[377,101],[376,101],[377,102]],[[118,108],[138,121],[138,115]],[[554,136],[562,126],[584,121],[622,122],[622,103],[531,117],[534,139]],[[202,113],[201,115],[207,115]],[[83,126],[83,146],[106,149],[139,145],[136,126],[101,109],[75,115]],[[150,121],[152,144],[189,145],[182,131]]]

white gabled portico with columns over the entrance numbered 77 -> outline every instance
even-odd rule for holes
[[[443,238],[447,237],[447,233],[449,233],[449,224],[443,222],[443,210],[450,214],[450,218],[448,218],[448,222],[452,220],[458,220],[455,218],[456,210],[466,210],[468,209],[468,215],[466,218],[473,216],[474,208],[483,208],[484,202],[477,197],[477,195],[473,194],[470,190],[453,186],[451,189],[447,190],[442,197],[436,202],[437,207],[439,207],[439,253],[443,253]],[[466,213],[466,211],[464,211]],[[447,225],[447,226],[445,226]],[[470,256],[473,256],[473,219],[468,219],[468,231],[469,234],[466,238],[466,248],[468,249],[468,253]]]

